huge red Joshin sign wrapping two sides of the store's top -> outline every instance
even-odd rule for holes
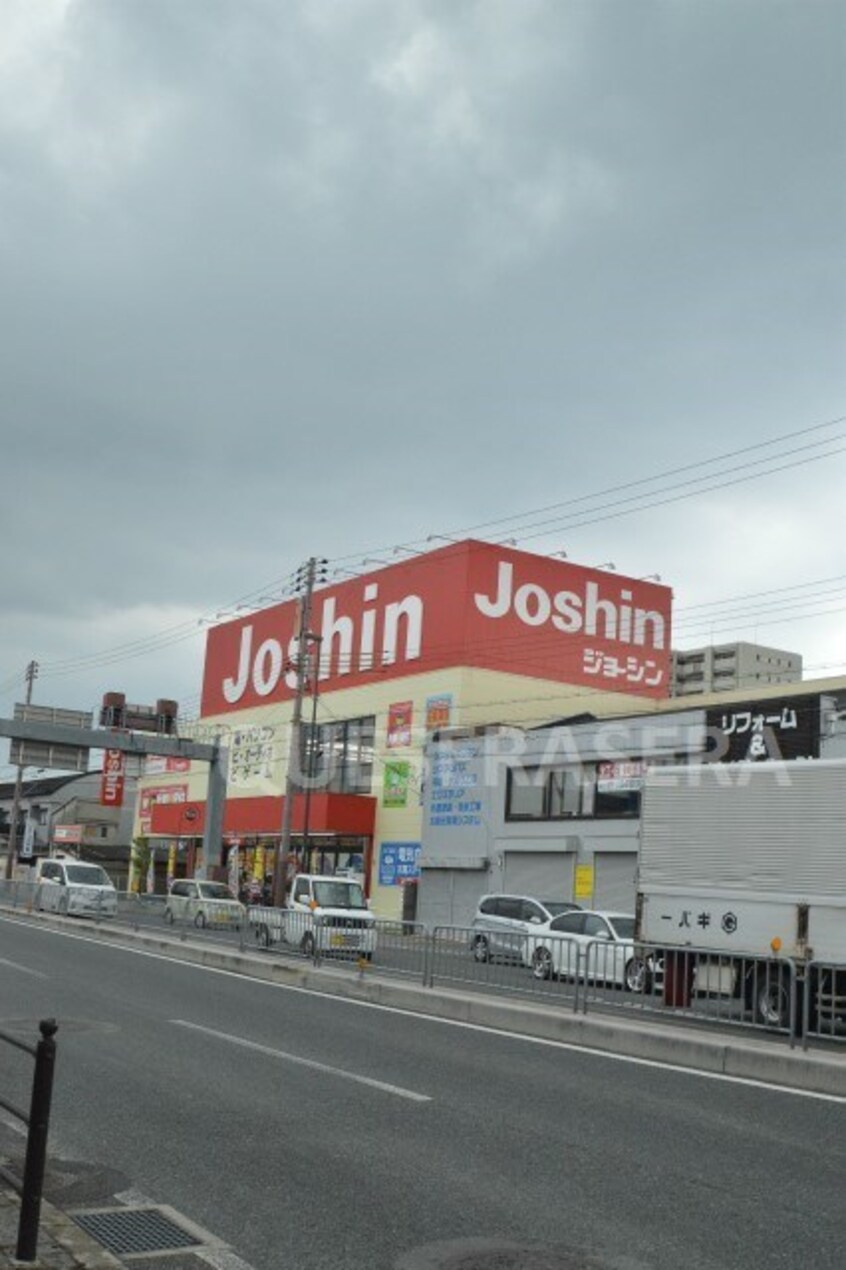
[[[466,665],[668,695],[668,587],[459,542],[315,592],[321,691]],[[297,601],[208,631],[202,714],[292,700]]]

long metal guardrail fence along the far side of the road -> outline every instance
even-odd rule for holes
[[[65,916],[56,889],[0,880],[0,904]],[[625,1011],[641,1019],[682,1017],[781,1033],[791,1046],[846,1041],[846,965],[545,933],[492,939],[485,931],[480,940],[473,927],[428,930],[358,911],[321,918],[234,902],[178,907],[163,895],[118,894],[117,912],[113,899],[100,899],[88,918],[74,921],[169,930],[180,940],[215,940],[314,965],[347,965],[361,974],[372,969],[427,988],[528,997],[581,1013]]]

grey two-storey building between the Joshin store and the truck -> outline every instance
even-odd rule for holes
[[[499,892],[634,912],[647,767],[845,754],[846,678],[432,738],[418,918],[467,926]]]

